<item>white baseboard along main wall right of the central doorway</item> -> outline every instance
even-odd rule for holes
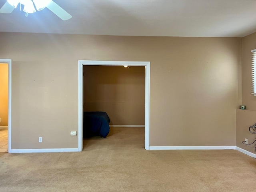
[[[221,150],[236,149],[236,146],[150,146],[149,150]]]

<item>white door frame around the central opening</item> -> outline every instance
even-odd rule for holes
[[[145,149],[149,150],[150,130],[150,62],[140,61],[78,61],[78,151],[83,149],[82,119],[83,119],[83,65],[104,66],[145,66]]]

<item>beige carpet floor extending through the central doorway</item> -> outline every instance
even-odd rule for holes
[[[0,153],[1,192],[255,192],[256,159],[236,150],[144,149],[143,128],[111,128],[82,152]]]

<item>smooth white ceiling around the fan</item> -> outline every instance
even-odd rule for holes
[[[6,0],[0,0],[0,7]],[[54,0],[73,17],[47,8],[0,13],[0,32],[122,36],[243,37],[256,32],[256,0]]]

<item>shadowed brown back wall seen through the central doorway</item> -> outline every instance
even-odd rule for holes
[[[145,67],[84,66],[84,111],[104,111],[111,125],[145,124]]]

